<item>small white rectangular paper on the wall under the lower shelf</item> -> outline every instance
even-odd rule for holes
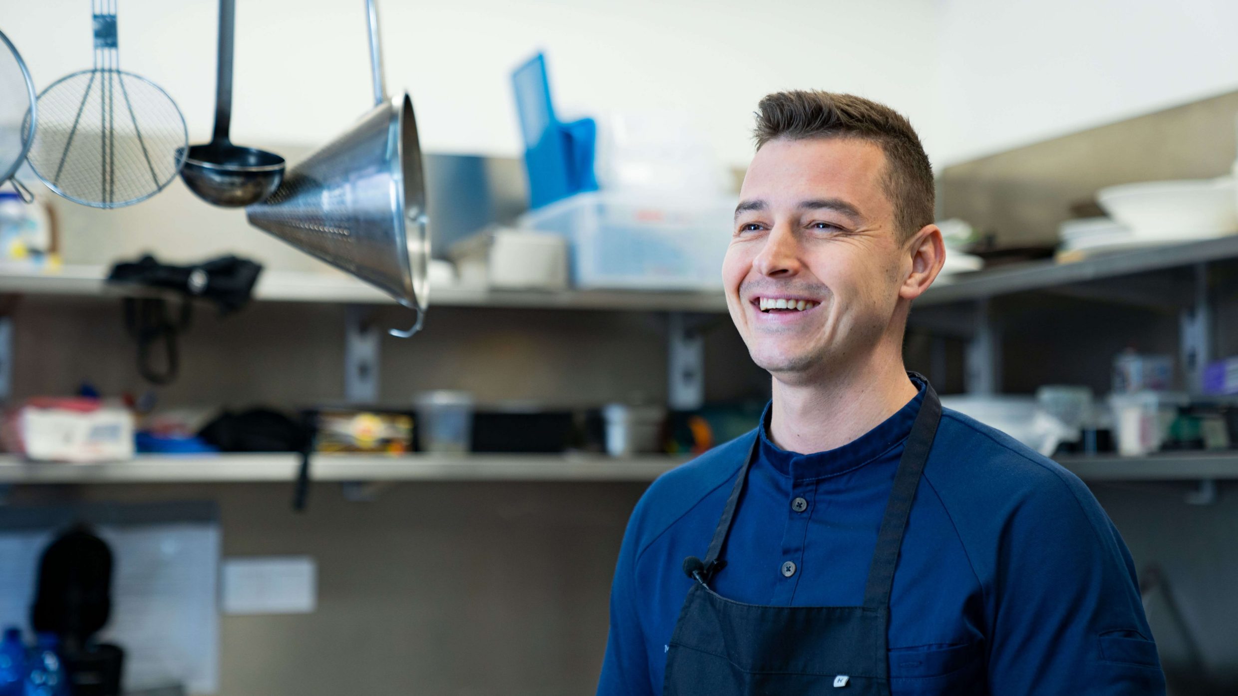
[[[314,611],[317,563],[310,556],[224,559],[225,614],[308,614]]]

